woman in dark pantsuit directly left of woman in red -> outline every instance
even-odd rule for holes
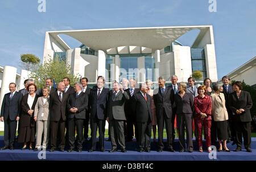
[[[185,128],[187,135],[188,152],[193,152],[192,142],[192,114],[193,114],[193,94],[187,93],[187,85],[180,83],[178,94],[175,94],[175,104],[177,106],[177,130],[179,134],[180,152],[185,151]]]

